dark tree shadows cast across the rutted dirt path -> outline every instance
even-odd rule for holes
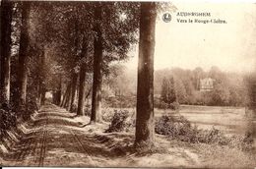
[[[74,119],[74,114],[55,105],[43,106],[27,125],[21,125],[17,133],[9,136],[5,145],[8,152],[2,154],[6,165],[65,166],[66,160],[72,166],[98,166],[95,161],[99,159],[125,155],[116,148],[114,134],[112,139],[91,135],[83,131],[88,123]]]

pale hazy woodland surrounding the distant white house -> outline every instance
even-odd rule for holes
[[[202,68],[192,71],[180,68],[163,69],[156,71],[155,77],[157,95],[162,95],[163,81],[173,77],[176,98],[180,104],[244,106],[248,103],[248,78],[236,73],[224,73],[217,67],[213,67],[209,72],[204,72]],[[199,90],[199,81],[204,78],[214,80],[212,91]]]

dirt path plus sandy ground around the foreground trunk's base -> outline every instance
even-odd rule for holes
[[[126,151],[133,134],[103,133],[107,124],[86,126],[88,117],[78,118],[54,105],[45,105],[32,122],[21,126],[23,134],[4,154],[4,166],[153,167],[198,166],[199,156],[184,145],[165,144],[167,152],[136,155]]]

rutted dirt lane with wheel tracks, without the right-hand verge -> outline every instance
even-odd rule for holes
[[[24,133],[19,141],[12,144],[9,152],[3,156],[3,164],[56,166],[56,161],[61,159],[61,154],[58,153],[60,150],[70,152],[71,155],[81,151],[88,156],[88,159],[91,159],[72,129],[79,127],[79,123],[72,122],[73,116],[53,105],[42,107],[31,124],[21,127],[29,132]],[[56,154],[52,155],[54,151]],[[53,159],[54,156],[56,159]],[[88,160],[87,164],[88,166],[94,165],[92,160]]]

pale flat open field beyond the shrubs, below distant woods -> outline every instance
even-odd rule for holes
[[[135,116],[136,108],[104,108],[103,111],[113,113],[114,110],[128,110]],[[155,109],[156,117],[163,114],[184,116],[199,129],[216,129],[226,134],[244,134],[248,129],[245,107],[194,106],[181,105],[178,111]]]

